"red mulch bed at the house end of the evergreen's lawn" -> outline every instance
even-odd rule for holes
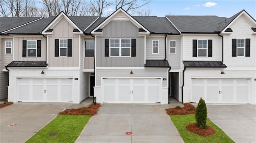
[[[196,108],[194,105],[190,103],[184,103],[184,107],[182,108],[169,108],[166,109],[168,115],[187,115],[187,114],[195,114]]]

